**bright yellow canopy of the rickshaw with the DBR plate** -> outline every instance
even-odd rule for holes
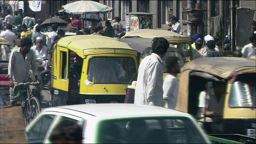
[[[131,54],[137,56],[136,50],[124,42],[119,42],[107,36],[76,35],[61,38],[56,44],[62,48],[72,50],[81,58],[93,54]]]

